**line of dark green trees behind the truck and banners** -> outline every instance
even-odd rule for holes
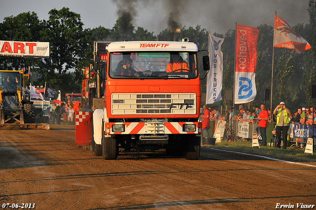
[[[316,84],[316,0],[309,1],[307,12],[310,22],[306,25],[297,24],[292,29],[312,45],[302,54],[286,48],[275,48],[274,57],[274,86],[273,106],[284,101],[291,110],[300,106],[313,105],[310,96],[310,85]],[[158,35],[142,27],[134,27],[130,22],[119,17],[112,29],[102,26],[94,29],[83,29],[80,14],[64,7],[60,10],[52,9],[48,12],[48,20],[39,20],[35,12],[24,12],[17,16],[5,17],[0,23],[0,40],[21,42],[49,42],[49,58],[28,58],[0,56],[0,69],[28,69],[30,66],[34,85],[49,84],[61,90],[62,99],[66,92],[80,92],[81,69],[89,66],[93,59],[94,41],[180,41],[189,38],[197,43],[199,50],[208,48],[208,31],[201,26],[180,25],[180,33],[172,33],[169,29]],[[260,105],[264,99],[265,89],[271,89],[272,52],[274,27],[267,24],[257,26],[259,30],[257,40],[256,66],[256,99],[249,106]],[[231,29],[225,34],[214,33],[214,36],[224,38],[221,46],[223,52],[223,89],[222,103],[227,105],[231,101],[225,99],[227,90],[233,90],[235,34]],[[202,55],[199,54],[201,66]],[[201,69],[201,68],[200,68]],[[200,71],[203,78],[206,72]],[[202,92],[206,91],[206,78],[201,80]],[[270,106],[270,101],[266,101]],[[246,105],[248,106],[248,104]]]

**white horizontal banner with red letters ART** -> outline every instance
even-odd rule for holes
[[[49,57],[49,42],[17,42],[0,40],[1,56]]]

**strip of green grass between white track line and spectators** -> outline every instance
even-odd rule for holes
[[[278,149],[273,146],[260,146],[252,148],[251,142],[227,142],[222,141],[221,143],[215,143],[213,145],[203,145],[209,146],[215,149],[229,150],[235,152],[248,153],[253,155],[261,155],[269,158],[280,159],[283,161],[293,161],[293,162],[306,162],[306,163],[316,163],[316,152],[313,155],[304,154],[305,149],[300,149],[298,147],[287,147],[287,149]]]

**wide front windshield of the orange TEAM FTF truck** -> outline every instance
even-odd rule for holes
[[[110,77],[116,79],[197,78],[196,52],[112,52]]]

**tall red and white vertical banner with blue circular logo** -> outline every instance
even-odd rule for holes
[[[253,101],[257,95],[255,70],[258,32],[256,28],[237,25],[235,104]]]

